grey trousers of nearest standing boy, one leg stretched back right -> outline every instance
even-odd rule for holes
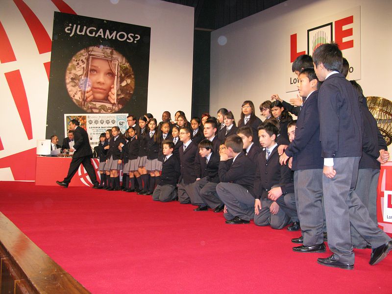
[[[332,179],[322,176],[328,246],[334,259],[344,264],[354,264],[350,224],[372,248],[391,240],[370,219],[368,209],[354,191],[359,160],[360,157],[334,158],[336,175]]]

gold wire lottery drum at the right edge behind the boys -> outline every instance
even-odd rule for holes
[[[369,96],[366,99],[368,108],[376,119],[378,129],[388,146],[392,143],[392,101],[374,96]]]

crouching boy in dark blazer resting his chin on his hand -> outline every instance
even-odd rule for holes
[[[253,182],[256,167],[243,152],[244,143],[238,135],[225,141],[226,152],[221,152],[217,193],[227,209],[226,223],[249,223],[254,216]],[[232,161],[228,161],[233,158]]]

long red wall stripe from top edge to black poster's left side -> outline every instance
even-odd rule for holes
[[[50,52],[52,47],[52,41],[44,25],[41,24],[40,20],[24,1],[14,0],[14,2],[18,7],[19,11],[22,13],[26,24],[31,31],[35,44],[37,45],[38,52],[40,54]]]

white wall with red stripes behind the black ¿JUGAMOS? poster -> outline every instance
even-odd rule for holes
[[[147,110],[160,118],[164,110],[191,114],[194,8],[159,0],[64,0],[78,15],[151,27]],[[50,0],[24,0],[52,36]],[[113,4],[116,3],[117,4]],[[12,0],[1,0],[0,21],[17,61],[0,63],[0,138],[7,156],[36,147],[45,138],[49,81],[43,66],[50,52],[39,54],[25,19]],[[30,107],[33,139],[28,140],[4,73],[20,70]],[[7,122],[7,123],[4,123]],[[17,134],[17,135],[16,135]],[[22,164],[22,163],[21,163]],[[0,180],[4,172],[0,172]]]

